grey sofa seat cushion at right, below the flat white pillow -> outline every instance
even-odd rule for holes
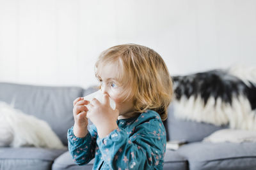
[[[256,143],[191,143],[177,150],[191,170],[256,169]]]

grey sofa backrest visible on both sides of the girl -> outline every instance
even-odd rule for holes
[[[45,120],[67,145],[67,130],[74,125],[72,114],[73,101],[97,89],[90,87],[47,87],[0,83],[0,101],[13,104],[28,115]],[[89,122],[92,124],[91,122]],[[168,119],[164,121],[168,140],[202,141],[206,136],[219,129],[212,124],[180,120],[173,116],[173,104],[168,108]]]

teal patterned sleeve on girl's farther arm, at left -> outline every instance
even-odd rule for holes
[[[68,129],[67,138],[68,150],[76,164],[88,164],[95,157],[97,131],[94,125],[90,126],[88,134],[84,138],[77,138],[73,133],[73,127],[71,127]]]

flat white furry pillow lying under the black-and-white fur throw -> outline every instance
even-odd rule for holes
[[[210,136],[204,138],[203,141],[212,142],[212,143],[256,142],[256,131],[222,129],[220,131],[213,132]]]

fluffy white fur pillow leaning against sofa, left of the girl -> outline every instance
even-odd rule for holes
[[[0,102],[0,146],[65,148],[44,120]]]

